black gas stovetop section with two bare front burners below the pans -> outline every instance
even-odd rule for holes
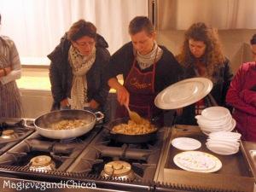
[[[126,144],[113,141],[102,125],[73,140],[49,139],[35,131],[0,155],[0,176],[28,180],[37,177],[39,182],[47,179],[54,183],[68,179],[95,182],[100,191],[148,191],[154,189],[167,132],[162,128],[154,141]]]

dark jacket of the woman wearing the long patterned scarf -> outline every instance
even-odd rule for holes
[[[49,79],[51,92],[54,98],[52,110],[60,108],[61,100],[70,97],[73,73],[68,61],[68,50],[71,42],[67,39],[67,34],[61,38],[61,43],[48,55],[50,62]],[[109,87],[105,77],[105,68],[108,65],[110,54],[108,43],[102,36],[96,37],[96,60],[88,73],[86,73],[88,85],[88,100],[94,99],[100,103],[102,108],[108,96]]]

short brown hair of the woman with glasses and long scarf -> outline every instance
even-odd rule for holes
[[[96,26],[85,20],[73,23],[67,32],[67,38],[71,41],[76,41],[84,36],[96,39]]]

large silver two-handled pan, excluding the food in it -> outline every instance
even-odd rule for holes
[[[96,115],[99,115],[97,118]],[[96,122],[104,118],[101,112],[91,113],[86,110],[68,109],[45,113],[35,119],[34,125],[40,135],[53,139],[79,137],[90,131]],[[88,124],[69,130],[53,130],[50,125],[63,119],[84,119]]]

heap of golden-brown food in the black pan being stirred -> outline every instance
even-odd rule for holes
[[[146,119],[143,119],[142,124],[137,124],[132,120],[128,124],[120,124],[113,126],[113,132],[125,135],[142,135],[156,131],[156,127],[151,125]]]

